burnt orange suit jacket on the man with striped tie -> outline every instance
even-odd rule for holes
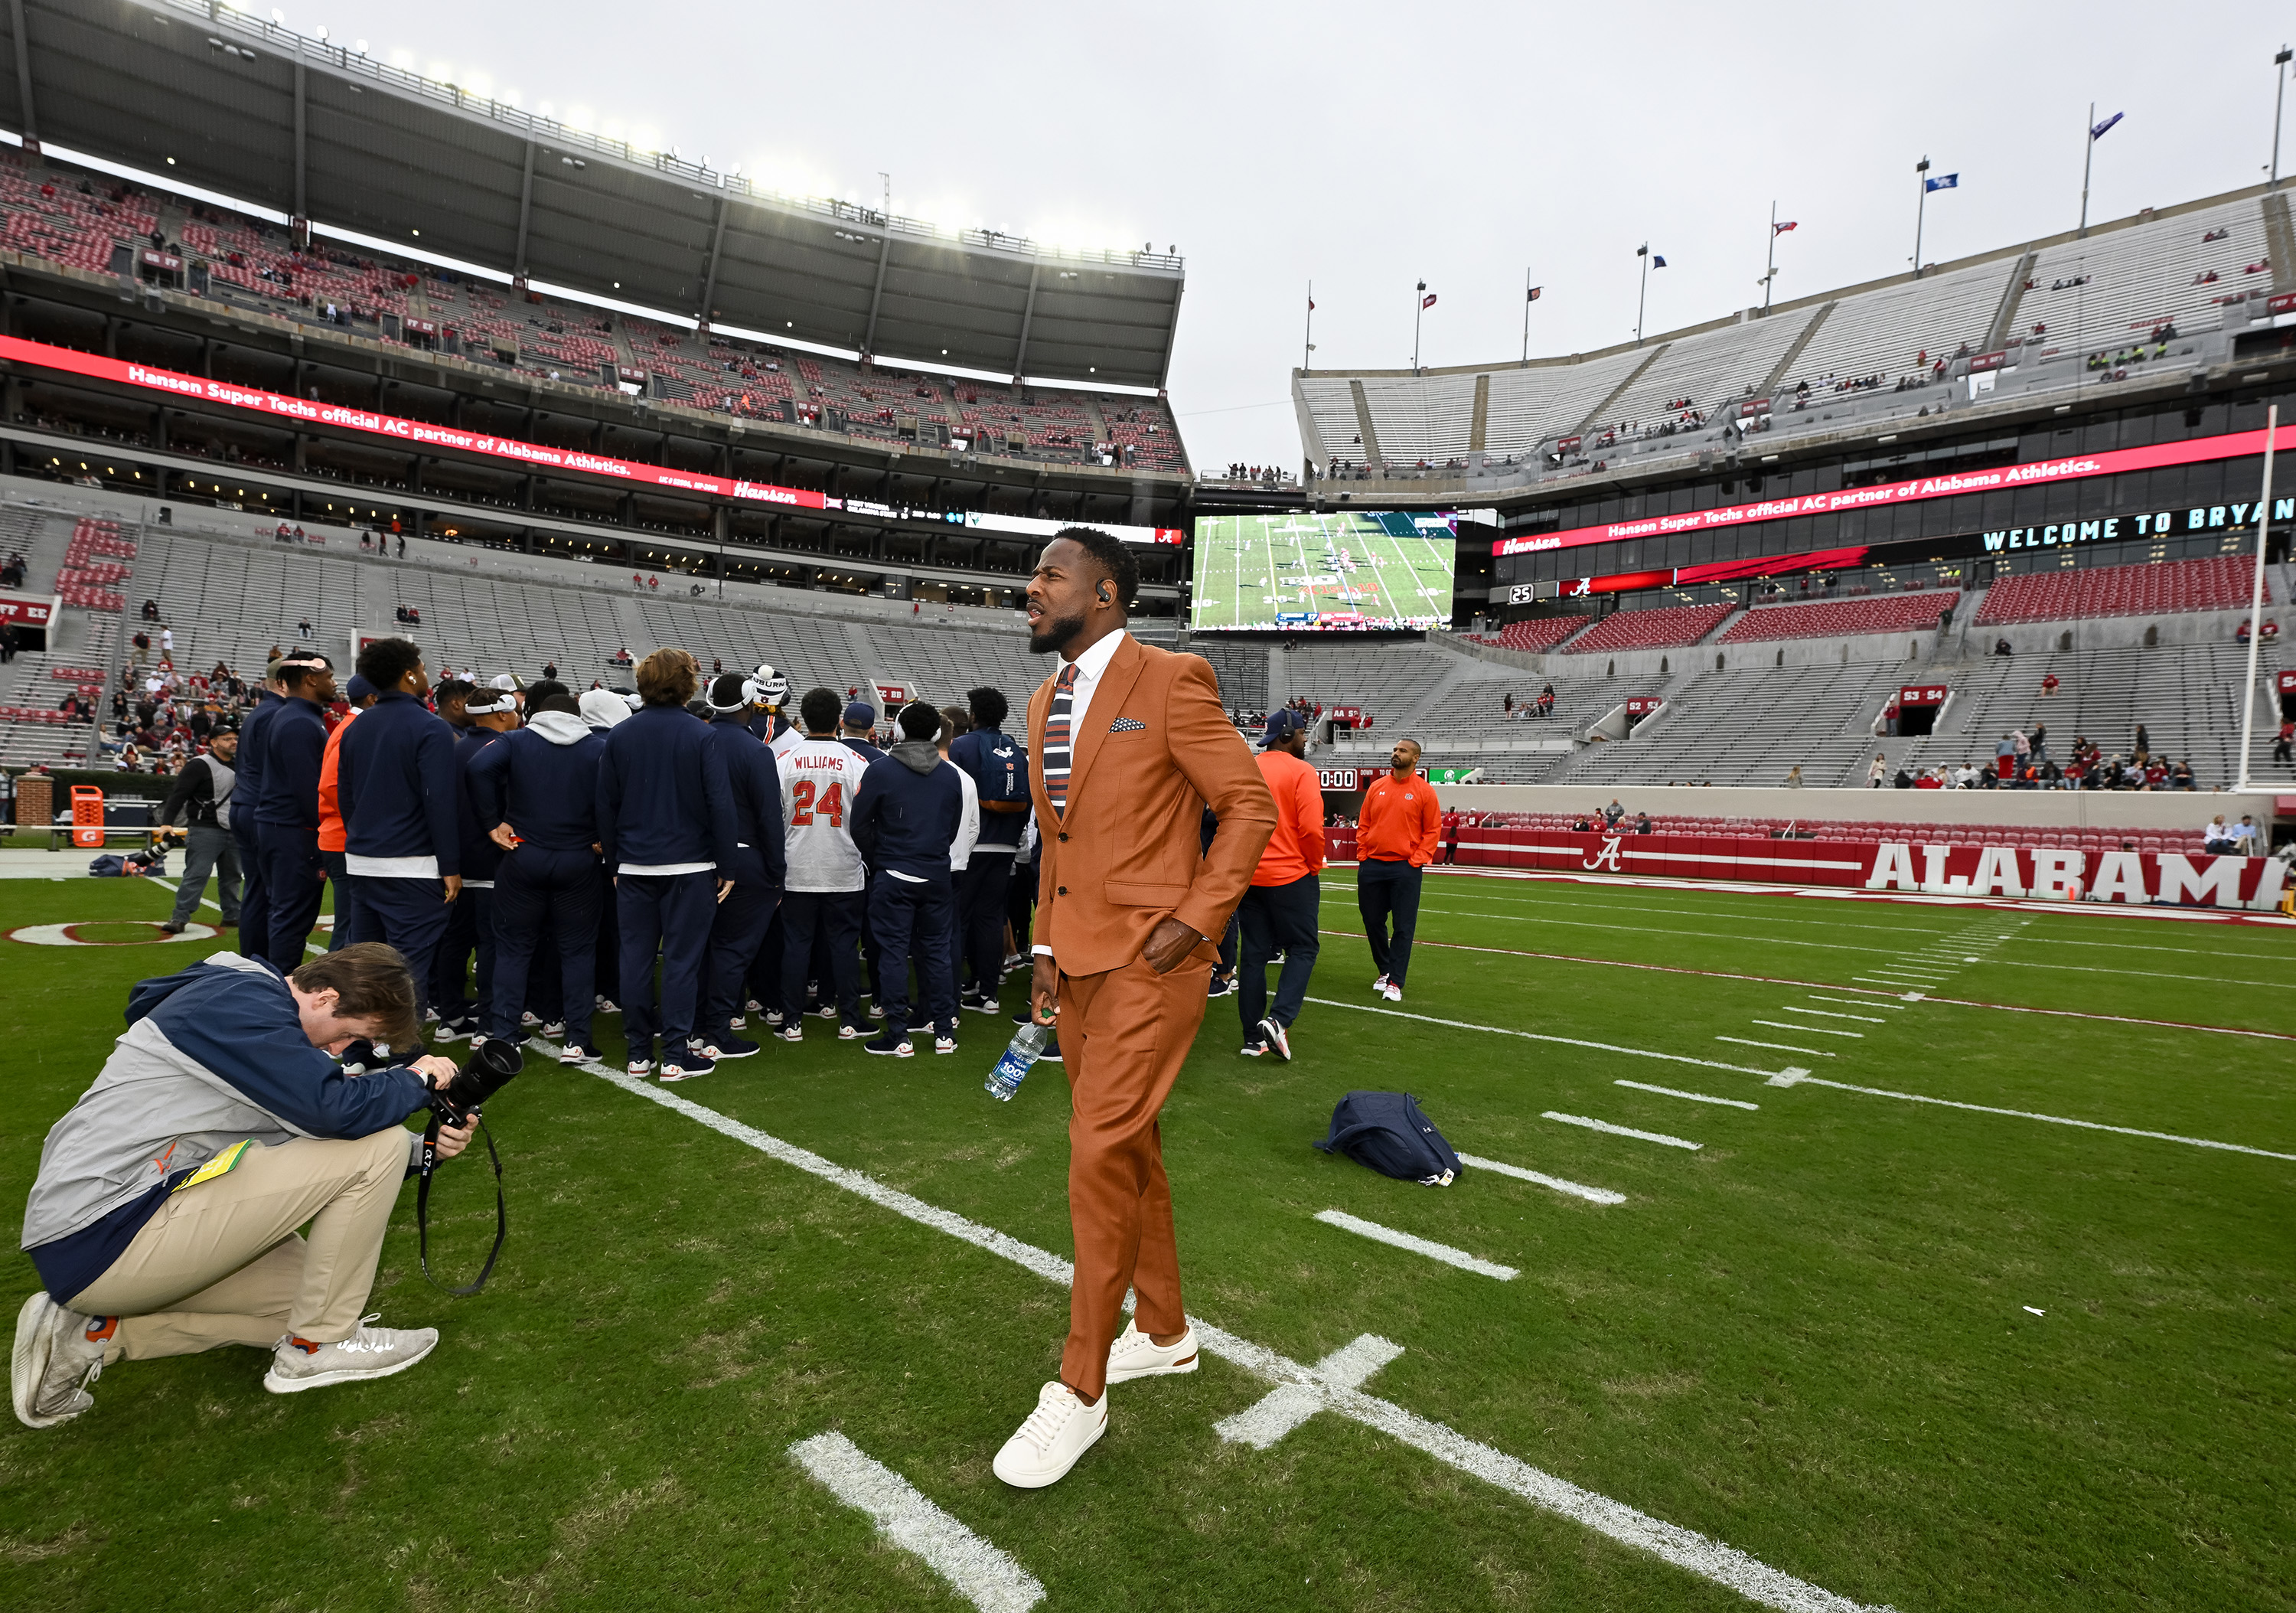
[[[1277,802],[1219,705],[1212,666],[1125,636],[1075,733],[1065,818],[1045,795],[1052,682],[1029,699],[1035,942],[1063,974],[1125,967],[1166,917],[1217,942],[1274,834]],[[1210,855],[1205,806],[1219,813]]]

